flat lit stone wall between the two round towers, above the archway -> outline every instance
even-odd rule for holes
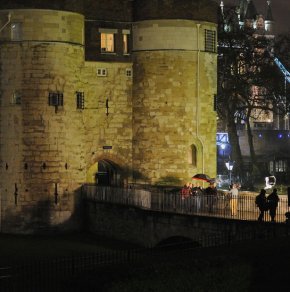
[[[97,76],[100,68],[107,70],[107,76]],[[132,77],[127,76],[127,69],[132,69],[131,63],[86,62],[82,69],[87,167],[83,182],[95,182],[97,168],[94,165],[103,159],[118,165],[124,172],[123,183],[129,182],[127,176],[132,168]]]

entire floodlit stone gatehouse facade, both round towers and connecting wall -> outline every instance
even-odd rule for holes
[[[214,20],[140,20],[130,29],[142,5],[124,1],[128,22],[111,21],[116,40],[130,34],[129,54],[94,56],[93,35],[107,20],[94,27],[87,8],[12,2],[0,10],[1,230],[75,226],[80,187],[96,183],[100,162],[113,185],[215,176],[216,53],[204,46]]]

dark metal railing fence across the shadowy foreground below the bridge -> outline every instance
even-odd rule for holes
[[[289,236],[285,233],[284,236]],[[148,267],[154,263],[183,261],[194,258],[200,248],[229,246],[238,241],[275,238],[274,229],[244,232],[239,234],[223,233],[196,238],[196,242],[184,241],[158,248],[136,248],[129,250],[107,250],[99,253],[72,255],[53,259],[38,259],[21,264],[0,264],[0,291],[80,291],[90,278],[92,287],[98,288],[101,272],[111,268],[126,270],[132,267]],[[198,244],[196,244],[198,243]],[[109,272],[110,273],[110,272]],[[78,284],[80,286],[75,286]],[[83,289],[81,291],[84,291]],[[88,291],[88,290],[87,290]],[[99,290],[89,290],[99,291]]]

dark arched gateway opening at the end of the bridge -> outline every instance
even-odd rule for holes
[[[100,186],[123,186],[121,168],[110,160],[98,161],[96,183]]]

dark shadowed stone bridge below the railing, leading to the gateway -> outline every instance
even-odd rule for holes
[[[113,200],[113,197],[110,200],[104,199],[104,196],[86,197],[86,228],[100,236],[124,240],[142,247],[157,246],[177,239],[187,239],[201,246],[219,245],[236,240],[286,236],[290,231],[289,224],[285,221],[261,223],[254,220],[160,211],[138,204],[125,204],[123,201]],[[120,198],[120,194],[118,197]]]

